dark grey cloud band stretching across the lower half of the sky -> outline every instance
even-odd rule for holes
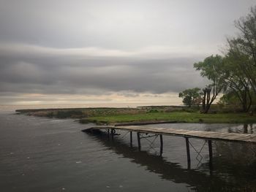
[[[105,91],[177,92],[203,86],[195,58],[147,59],[5,52],[0,54],[1,92],[93,93]]]

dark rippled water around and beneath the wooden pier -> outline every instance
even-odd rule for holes
[[[184,138],[164,136],[141,140],[138,151],[129,134],[118,131],[114,141],[85,134],[74,120],[35,118],[0,113],[1,191],[255,191],[256,147],[213,142],[209,167],[208,147],[190,139],[191,169],[187,169]],[[152,125],[151,125],[152,126]],[[162,124],[171,128],[255,134],[255,125]],[[134,135],[135,138],[135,135]],[[155,141],[154,141],[155,139]],[[153,144],[151,144],[153,142]],[[203,157],[201,159],[201,157]]]

